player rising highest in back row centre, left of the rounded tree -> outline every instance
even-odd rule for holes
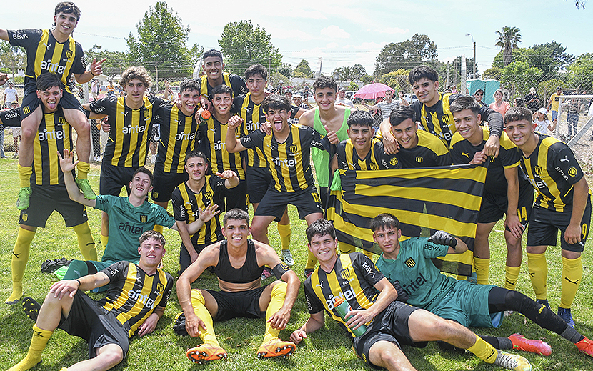
[[[231,98],[239,97],[241,94],[247,94],[247,86],[241,76],[229,74],[224,72],[224,63],[222,61],[222,53],[215,49],[210,49],[202,55],[204,60],[204,75],[197,81],[200,86],[200,94],[202,96],[202,107],[209,109],[211,106],[212,89],[219,85],[226,85],[231,87]]]

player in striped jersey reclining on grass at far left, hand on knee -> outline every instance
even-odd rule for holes
[[[162,234],[150,230],[139,241],[138,264],[116,262],[96,274],[56,282],[41,309],[26,298],[25,311],[36,320],[33,338],[24,360],[9,371],[29,370],[41,362],[41,352],[57,327],[89,342],[89,360],[76,363],[76,370],[109,370],[124,360],[129,337],[154,330],[173,288],[173,277],[157,268],[165,254]],[[107,296],[99,301],[81,291],[108,284]]]

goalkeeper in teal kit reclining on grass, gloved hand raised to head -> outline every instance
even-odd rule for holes
[[[377,267],[399,291],[407,296],[407,303],[433,312],[447,320],[472,327],[499,327],[502,312],[514,310],[537,325],[556,332],[574,342],[581,352],[593,356],[593,342],[547,307],[526,295],[494,285],[472,285],[442,274],[432,264],[432,258],[446,254],[462,254],[467,245],[451,234],[438,231],[431,237],[414,237],[399,242],[402,230],[392,214],[379,214],[370,223],[374,242],[383,254]],[[417,282],[423,282],[422,286]],[[552,354],[552,348],[541,340],[529,340],[520,334],[507,337],[482,336],[498,349],[518,349],[525,352]]]

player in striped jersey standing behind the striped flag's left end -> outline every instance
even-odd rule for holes
[[[396,154],[385,154],[383,143],[374,139],[369,112],[354,111],[347,119],[348,137],[337,145],[337,167],[344,170],[399,169]],[[336,166],[332,166],[332,171]]]

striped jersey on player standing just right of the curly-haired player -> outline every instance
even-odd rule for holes
[[[154,124],[159,124],[161,129],[155,169],[181,174],[184,172],[186,154],[197,147],[196,117],[193,114],[186,116],[174,104],[164,104],[156,112]]]

